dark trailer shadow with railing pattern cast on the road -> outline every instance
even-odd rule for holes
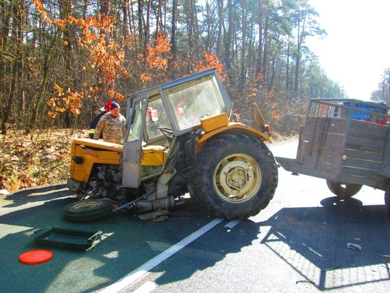
[[[268,246],[320,290],[389,280],[390,220],[382,205],[329,197],[322,207],[282,208],[267,221]],[[348,243],[361,250],[347,248]]]

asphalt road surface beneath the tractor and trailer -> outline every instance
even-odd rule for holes
[[[297,143],[269,147],[295,157]],[[120,212],[77,223],[63,219],[63,207],[76,200],[63,185],[22,190],[0,197],[0,292],[390,291],[383,195],[363,187],[339,201],[324,180],[279,168],[274,199],[244,222],[215,219],[187,200],[163,222]],[[87,251],[47,248],[32,238],[47,226],[102,235]],[[19,262],[39,248],[53,258]]]

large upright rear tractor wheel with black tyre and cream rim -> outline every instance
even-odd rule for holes
[[[210,214],[246,220],[265,209],[278,185],[266,144],[241,133],[207,142],[192,166],[192,190]]]

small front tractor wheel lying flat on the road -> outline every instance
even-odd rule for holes
[[[112,203],[108,199],[87,199],[72,202],[63,208],[63,216],[71,221],[89,221],[111,214]]]

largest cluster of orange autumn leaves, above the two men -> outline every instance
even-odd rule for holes
[[[54,22],[54,21],[53,21]],[[54,84],[55,95],[47,100],[47,105],[51,108],[48,111],[50,118],[55,118],[59,112],[69,110],[72,114],[80,114],[81,99],[91,97],[96,92],[104,92],[112,99],[123,100],[123,95],[114,89],[115,79],[119,74],[124,78],[129,76],[124,68],[124,53],[115,41],[109,41],[106,37],[114,30],[113,20],[110,17],[87,17],[86,19],[68,16],[66,21],[55,21],[57,25],[77,25],[81,30],[78,42],[81,48],[89,52],[87,65],[82,67],[86,70],[96,71],[99,76],[100,86],[90,86],[84,91],[72,91],[69,87],[63,89],[61,85]],[[106,35],[107,34],[107,35]],[[68,45],[64,41],[64,46]]]

